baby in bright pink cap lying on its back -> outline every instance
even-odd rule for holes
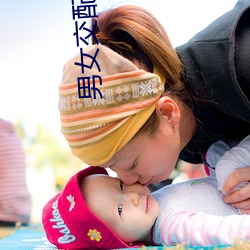
[[[228,149],[222,141],[214,144],[208,163],[215,164],[220,157],[216,152]],[[206,178],[169,185],[152,194],[141,184],[127,186],[103,168],[88,167],[44,207],[47,238],[60,249],[208,246],[250,239],[250,216],[226,204],[219,190],[227,178],[220,175],[220,166],[225,173],[227,164],[229,174],[243,162],[246,166],[249,156],[250,136],[218,160],[218,181],[210,169]]]

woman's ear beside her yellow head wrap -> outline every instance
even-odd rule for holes
[[[164,119],[175,126],[180,122],[180,109],[178,104],[169,96],[162,96],[156,104],[156,113],[160,119]]]

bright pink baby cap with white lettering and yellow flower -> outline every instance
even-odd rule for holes
[[[48,240],[60,249],[138,247],[131,247],[121,241],[88,208],[80,190],[79,180],[93,174],[108,175],[107,171],[100,167],[83,169],[72,176],[64,189],[45,205],[42,222]]]

